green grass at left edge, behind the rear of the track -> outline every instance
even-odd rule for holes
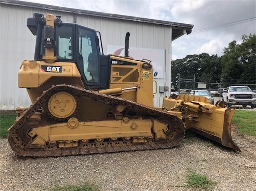
[[[7,138],[8,128],[10,128],[16,119],[17,114],[1,114],[0,115],[0,137]]]

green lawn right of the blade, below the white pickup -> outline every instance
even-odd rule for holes
[[[238,132],[244,135],[256,136],[256,112],[248,110],[236,110],[232,123],[236,124]]]

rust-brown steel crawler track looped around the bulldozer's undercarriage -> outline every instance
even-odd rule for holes
[[[66,91],[75,96],[87,96],[96,101],[108,102],[109,104],[122,104],[126,108],[129,107],[133,111],[141,112],[147,114],[156,119],[164,119],[165,122],[175,120],[177,122],[178,131],[177,135],[171,142],[153,142],[152,144],[132,144],[123,146],[107,146],[100,148],[58,148],[57,150],[45,151],[42,148],[28,149],[24,150],[22,146],[18,146],[14,142],[13,131],[22,128],[23,124],[40,108],[42,108],[54,93],[59,91]],[[101,94],[97,91],[90,91],[74,87],[72,85],[56,85],[52,86],[47,91],[44,91],[42,95],[36,99],[36,102],[30,106],[28,110],[23,112],[23,114],[16,119],[15,124],[9,129],[8,142],[16,153],[20,156],[27,157],[50,157],[50,156],[69,156],[69,155],[85,155],[85,154],[96,154],[96,153],[112,153],[112,152],[122,152],[122,151],[137,151],[137,150],[151,150],[151,149],[165,149],[177,146],[179,142],[183,139],[185,133],[185,126],[177,116],[169,114],[168,112],[157,110],[137,102],[126,100],[120,97]]]

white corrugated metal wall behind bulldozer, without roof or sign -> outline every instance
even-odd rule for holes
[[[17,74],[24,59],[34,58],[35,36],[26,27],[26,20],[33,13],[62,16],[63,22],[74,22],[74,14],[54,12],[52,10],[32,9],[14,5],[0,5],[0,109],[15,109],[30,105],[26,89],[18,88]],[[171,27],[141,22],[132,22],[112,18],[77,15],[77,24],[94,28],[101,32],[103,49],[107,45],[124,46],[126,32],[131,33],[130,46],[162,49],[165,51],[165,79],[156,79],[157,86],[169,86],[171,61]],[[168,92],[166,93],[167,95]],[[155,106],[162,104],[165,94],[157,93]]]

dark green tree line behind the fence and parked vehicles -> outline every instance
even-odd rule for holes
[[[235,40],[224,48],[224,55],[187,55],[183,59],[171,62],[171,81],[175,89],[178,88],[178,74],[181,79],[220,83],[255,83],[256,79],[256,35],[243,35],[242,43]]]

